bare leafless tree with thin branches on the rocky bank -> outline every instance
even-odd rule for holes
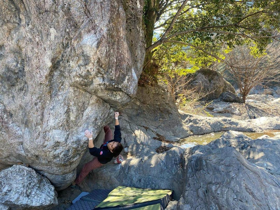
[[[254,57],[246,46],[236,47],[225,55],[226,70],[235,80],[245,103],[250,90],[258,85],[280,82],[280,42],[267,46],[266,55]]]

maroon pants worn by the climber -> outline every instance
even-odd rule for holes
[[[110,141],[113,139],[113,135],[112,135],[112,131],[109,128],[109,126],[105,126],[104,128],[104,132],[105,132],[105,140],[104,143],[106,141]],[[80,184],[84,178],[88,175],[88,173],[90,173],[91,170],[96,169],[98,167],[101,167],[103,164],[101,162],[98,161],[97,157],[94,157],[92,159],[92,161],[86,163],[81,171],[81,173],[79,174],[79,176],[75,179],[76,184]]]

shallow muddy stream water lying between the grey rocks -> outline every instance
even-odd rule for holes
[[[239,132],[243,133],[244,135],[246,135],[252,139],[257,139],[262,135],[268,135],[268,136],[272,137],[277,134],[280,134],[279,130],[266,130],[266,131],[263,131],[262,133],[243,132],[243,131],[239,131]],[[181,147],[183,147],[183,148],[193,147],[198,144],[205,145],[213,140],[220,138],[220,136],[223,135],[224,133],[225,133],[225,131],[208,133],[208,134],[204,134],[204,135],[189,136],[187,138],[181,139],[177,143],[179,145],[181,145]]]

